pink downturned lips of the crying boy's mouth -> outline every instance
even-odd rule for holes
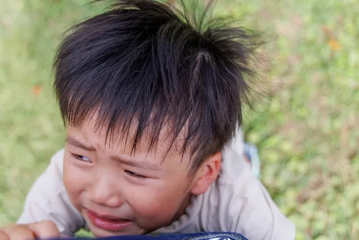
[[[126,219],[122,221],[120,219],[102,218],[88,209],[86,209],[86,214],[93,225],[108,231],[121,231],[132,223],[132,221]]]

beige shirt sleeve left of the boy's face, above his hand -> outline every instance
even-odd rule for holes
[[[85,225],[85,220],[72,206],[63,185],[63,156],[63,150],[57,152],[45,172],[30,188],[18,224],[52,220],[58,231],[68,236]]]

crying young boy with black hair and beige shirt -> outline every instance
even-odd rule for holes
[[[243,156],[252,40],[150,0],[117,1],[76,25],[54,64],[65,148],[0,239],[81,228],[294,239]]]

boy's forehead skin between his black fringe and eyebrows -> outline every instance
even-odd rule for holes
[[[113,128],[108,134],[108,127],[98,127],[96,124],[96,116],[84,121],[79,127],[71,125],[67,126],[68,135],[91,144],[96,149],[105,149],[107,151],[123,151],[133,152],[134,138],[136,135],[136,121],[133,121],[129,127],[124,129],[122,126]],[[188,153],[181,151],[185,139],[185,131],[182,131],[176,139],[173,140],[169,125],[164,125],[158,134],[158,138],[154,139],[153,129],[149,125],[139,141],[136,143],[134,152],[139,155],[154,154],[156,158],[164,159],[168,157],[180,157],[189,159]]]

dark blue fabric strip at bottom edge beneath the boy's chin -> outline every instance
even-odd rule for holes
[[[248,240],[241,234],[232,232],[199,232],[199,233],[178,233],[178,234],[161,234],[158,236],[138,235],[138,236],[109,236],[98,237],[97,240],[209,240],[209,239],[231,239],[231,240]],[[52,238],[51,240],[64,240],[75,238]],[[94,238],[76,238],[90,240]],[[50,239],[48,239],[50,240]]]

